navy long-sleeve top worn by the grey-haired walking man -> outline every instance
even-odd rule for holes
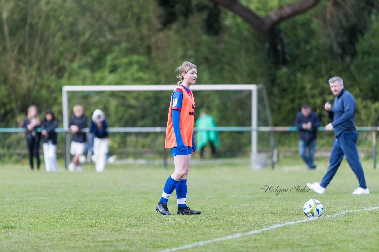
[[[354,124],[355,100],[345,88],[341,90],[339,96],[334,98],[332,111],[328,111],[327,114],[333,120],[332,125],[336,138],[342,133],[354,133],[357,131]]]

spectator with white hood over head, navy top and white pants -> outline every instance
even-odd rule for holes
[[[97,109],[92,114],[90,132],[94,135],[93,155],[96,172],[103,172],[109,150],[108,131],[103,111]]]

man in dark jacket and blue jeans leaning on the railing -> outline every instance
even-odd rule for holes
[[[308,169],[315,169],[316,165],[313,161],[316,152],[317,127],[320,126],[320,119],[309,105],[303,105],[301,111],[296,114],[295,126],[299,129],[299,155],[307,164]]]

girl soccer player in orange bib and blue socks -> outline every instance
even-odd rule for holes
[[[179,75],[176,76],[179,82],[171,96],[164,146],[171,148],[175,170],[164,184],[161,199],[155,210],[164,215],[171,215],[167,208],[167,201],[175,190],[178,214],[200,214],[200,211],[191,210],[186,205],[189,161],[191,154],[196,151],[193,137],[195,100],[189,87],[196,83],[197,70],[196,65],[186,61],[176,70],[179,71]]]

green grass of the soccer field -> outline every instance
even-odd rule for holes
[[[196,216],[176,214],[175,192],[168,203],[175,214],[155,211],[173,165],[163,170],[160,165],[108,164],[104,173],[96,173],[93,165],[82,173],[0,165],[0,250],[159,251],[189,245],[183,251],[377,251],[378,209],[334,214],[379,206],[379,171],[372,162],[362,162],[370,195],[350,195],[358,184],[346,161],[324,195],[290,192],[295,185],[321,180],[327,160],[316,163],[311,171],[297,156],[281,159],[275,170],[193,165],[187,204],[202,211]],[[288,191],[260,192],[266,185]],[[312,198],[324,204],[323,217],[261,230],[308,219],[302,207]],[[246,235],[252,230],[260,231]],[[215,240],[238,233],[245,235]],[[212,242],[194,244],[200,241]]]

